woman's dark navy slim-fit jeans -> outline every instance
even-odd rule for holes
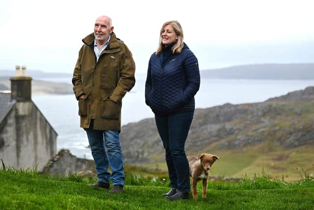
[[[193,119],[194,110],[167,116],[155,115],[157,129],[166,150],[166,163],[171,188],[190,191],[190,170],[184,144]]]

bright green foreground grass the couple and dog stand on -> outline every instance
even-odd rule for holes
[[[128,174],[124,193],[110,194],[107,189],[87,187],[94,178],[69,174],[49,177],[36,169],[0,170],[0,209],[313,209],[314,179],[300,167],[300,180],[288,183],[272,180],[263,171],[254,179],[209,181],[207,198],[176,202],[161,194],[169,190],[169,180],[152,180]],[[303,170],[303,171],[302,171]],[[201,184],[198,185],[201,195]]]

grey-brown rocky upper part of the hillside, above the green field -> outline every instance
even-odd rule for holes
[[[185,150],[241,150],[265,142],[285,149],[313,145],[313,99],[314,87],[309,87],[261,103],[196,109]],[[120,140],[126,163],[154,161],[164,153],[154,119],[123,126]]]

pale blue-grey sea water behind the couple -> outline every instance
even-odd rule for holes
[[[53,80],[52,80],[53,81]],[[67,80],[71,81],[71,80]],[[270,97],[314,86],[314,80],[220,80],[202,79],[195,96],[196,108],[224,103],[262,102]],[[123,98],[122,125],[154,117],[144,99],[145,77]],[[78,104],[72,95],[34,95],[33,101],[58,133],[57,150],[69,149],[78,157],[92,159],[85,131],[79,127]]]

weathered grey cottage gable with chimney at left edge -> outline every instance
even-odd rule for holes
[[[0,91],[0,158],[6,166],[41,171],[56,154],[57,133],[31,100],[32,78],[19,75],[10,78],[10,92]]]

